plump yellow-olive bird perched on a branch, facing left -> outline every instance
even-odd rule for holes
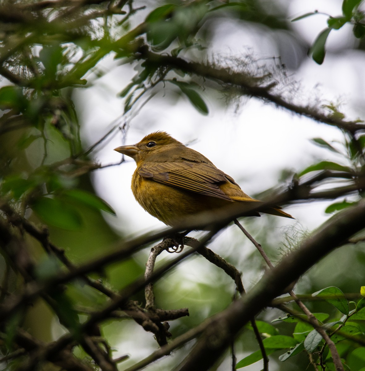
[[[178,226],[186,216],[217,210],[232,202],[260,202],[245,194],[208,158],[166,132],[151,133],[135,145],[114,151],[136,161],[132,177],[134,197],[144,210],[169,226]],[[279,206],[260,212],[293,218]]]

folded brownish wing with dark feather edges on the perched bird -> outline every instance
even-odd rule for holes
[[[235,181],[212,164],[194,161],[145,162],[138,173],[173,187],[233,201],[257,201],[247,196]],[[233,194],[230,194],[233,188]]]

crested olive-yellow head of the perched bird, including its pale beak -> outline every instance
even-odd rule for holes
[[[170,152],[170,150],[181,146],[185,147],[166,132],[157,131],[146,135],[135,145],[122,145],[115,148],[114,151],[132,157],[138,164],[140,161],[146,161],[146,159],[154,161],[155,155],[159,156],[159,161],[161,162],[163,152]]]

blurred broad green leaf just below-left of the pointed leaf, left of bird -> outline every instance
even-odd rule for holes
[[[67,230],[82,226],[79,212],[56,198],[39,197],[31,208],[46,224]]]

